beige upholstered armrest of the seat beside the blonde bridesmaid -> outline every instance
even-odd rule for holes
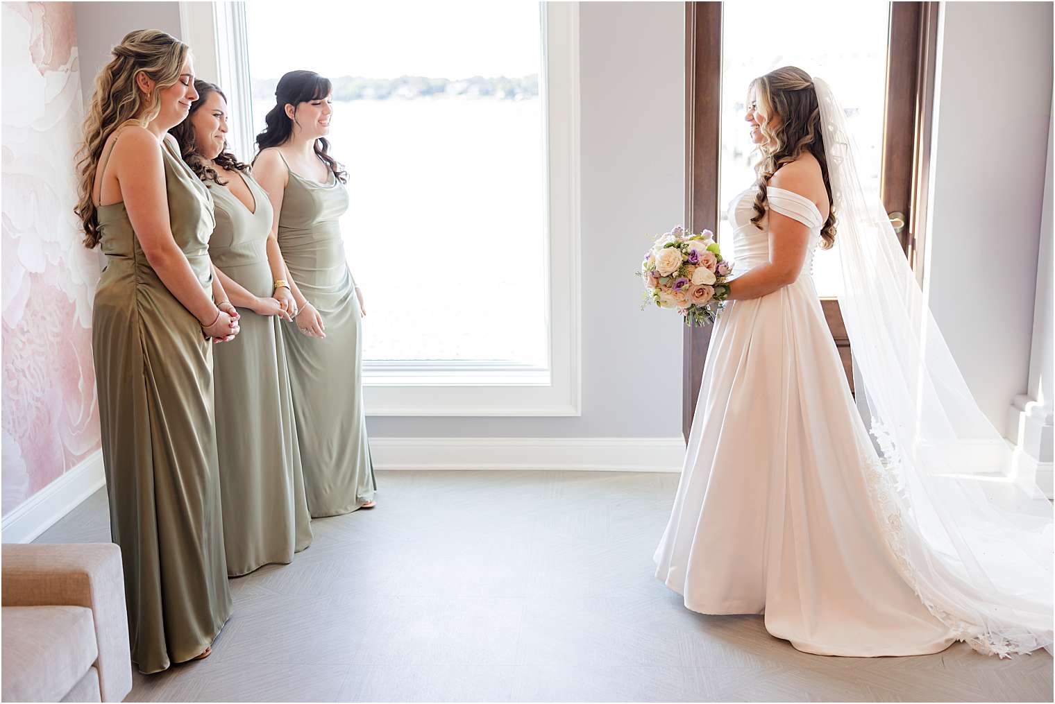
[[[5,543],[0,559],[4,606],[83,606],[92,610],[102,701],[124,699],[132,689],[132,659],[120,548],[113,543]]]

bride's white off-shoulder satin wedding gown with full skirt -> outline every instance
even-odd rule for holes
[[[769,259],[755,187],[729,207],[735,267]],[[810,228],[793,283],[715,324],[656,576],[701,613],[764,613],[772,635],[826,656],[938,652],[956,638],[901,576],[870,491],[879,457],[850,395],[810,267],[822,214],[769,187]],[[838,235],[837,235],[838,236]]]

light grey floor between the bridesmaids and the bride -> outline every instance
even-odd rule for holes
[[[129,701],[1030,701],[1052,658],[957,643],[830,658],[760,615],[687,610],[653,576],[676,474],[378,472],[378,508],[318,520],[291,565],[231,581],[208,659]],[[38,542],[110,536],[99,491]]]

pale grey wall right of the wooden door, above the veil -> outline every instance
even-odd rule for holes
[[[978,405],[1004,431],[1030,376],[1052,4],[946,2],[942,15],[929,301]]]

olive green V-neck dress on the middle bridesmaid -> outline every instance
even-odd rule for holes
[[[271,201],[256,181],[249,176],[244,180],[253,197],[252,212],[227,188],[206,181],[216,209],[209,255],[247,291],[270,296]],[[238,313],[237,337],[213,350],[224,544],[231,576],[268,563],[289,563],[311,543],[280,318],[249,309]]]

